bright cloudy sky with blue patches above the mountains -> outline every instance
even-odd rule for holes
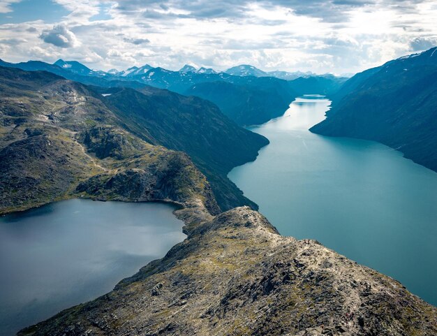
[[[354,73],[437,45],[437,0],[0,0],[0,58]]]

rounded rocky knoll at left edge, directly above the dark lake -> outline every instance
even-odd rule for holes
[[[30,127],[15,126],[0,146],[0,214],[65,198],[78,180],[103,171],[65,131]]]

